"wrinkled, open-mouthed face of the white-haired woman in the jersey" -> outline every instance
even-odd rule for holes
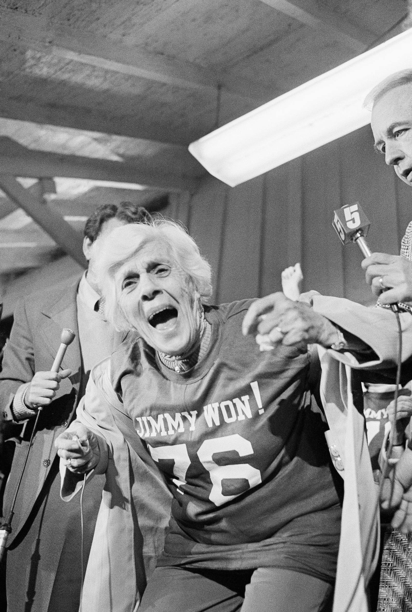
[[[131,328],[157,351],[185,356],[197,345],[199,294],[165,242],[153,240],[117,270],[120,308]]]

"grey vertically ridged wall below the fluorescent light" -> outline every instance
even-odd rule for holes
[[[180,219],[214,272],[215,302],[281,290],[281,271],[300,261],[304,289],[370,304],[355,245],[342,247],[334,209],[359,201],[372,250],[399,253],[412,219],[412,190],[373,151],[370,127],[230,188],[207,177],[165,215]]]

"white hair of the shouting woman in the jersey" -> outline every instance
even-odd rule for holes
[[[122,225],[98,237],[95,265],[97,283],[105,304],[105,318],[119,331],[130,329],[130,324],[119,307],[119,296],[114,282],[116,271],[132,259],[145,244],[156,239],[166,242],[169,246],[172,257],[189,277],[200,299],[205,301],[212,295],[210,264],[200,255],[199,247],[185,228],[164,218]]]

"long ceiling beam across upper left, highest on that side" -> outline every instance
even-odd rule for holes
[[[59,56],[70,61],[111,70],[178,88],[217,93],[218,87],[240,97],[263,102],[273,97],[269,88],[242,78],[232,79],[224,71],[149,53],[116,39],[93,32],[75,31],[59,25],[50,29],[44,17],[1,11],[0,40]]]

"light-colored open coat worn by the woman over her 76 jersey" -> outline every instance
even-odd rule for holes
[[[318,347],[322,366],[320,394],[329,425],[326,439],[328,446],[336,447],[339,452],[344,465],[344,471],[339,471],[339,474],[345,481],[334,612],[367,612],[366,586],[377,563],[380,534],[378,491],[373,482],[364,417],[353,405],[351,368],[393,368],[399,340],[397,323],[389,310],[370,309],[345,299],[315,296],[312,303],[314,310],[360,338],[376,354],[376,357],[361,362],[350,352],[338,353]],[[402,359],[407,362],[412,356],[412,316],[405,313],[400,317],[403,330]],[[131,438],[127,436],[129,442],[126,442],[119,429],[119,425],[124,425],[119,421],[121,408],[111,387],[109,367],[109,360],[106,360],[94,368],[85,400],[78,408],[78,419],[100,436],[102,452],[97,471],[106,470],[107,477],[84,583],[83,612],[132,612],[138,608],[139,567],[136,559],[130,556],[134,529],[131,509],[133,502],[138,506],[152,503],[150,498],[155,494],[156,487],[164,487],[163,481],[154,479],[150,493],[144,488],[144,491],[140,491],[139,499],[132,499],[128,478],[132,451],[145,464],[145,469],[149,466],[150,471],[156,470],[156,466],[148,455],[144,458],[141,454],[138,436],[134,435],[136,448],[131,449]],[[129,420],[129,427],[134,433],[133,424]],[[336,457],[333,459],[336,460]],[[71,499],[80,484],[76,485],[62,465],[61,474],[62,496]],[[138,477],[139,474],[134,476],[135,479]],[[123,504],[120,500],[123,500]],[[163,506],[163,509],[167,507]],[[161,516],[164,517],[164,514],[160,513]],[[145,554],[156,553],[156,548],[161,550],[163,524],[162,518],[153,518],[153,525],[158,531],[152,534],[149,530],[144,533],[139,524],[144,539],[147,538]],[[130,597],[126,596],[127,593]]]

